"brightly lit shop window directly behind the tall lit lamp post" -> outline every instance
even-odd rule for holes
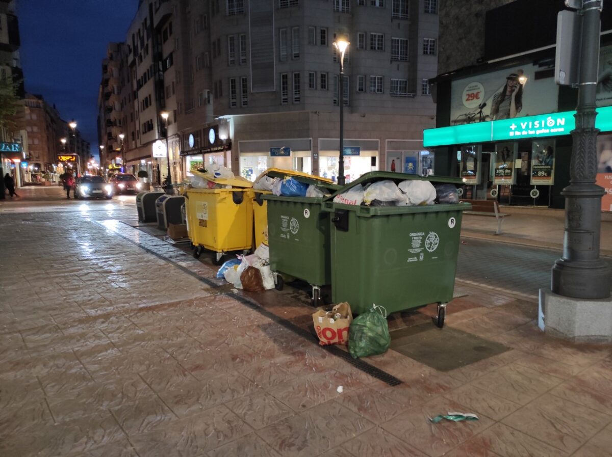
[[[346,182],[356,180],[361,175],[379,169],[379,141],[346,139],[344,148],[344,170]],[[319,139],[319,176],[336,181],[338,177],[338,159],[340,141],[337,139]]]

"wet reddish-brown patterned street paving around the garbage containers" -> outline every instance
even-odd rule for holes
[[[395,313],[397,350],[356,364],[301,291],[232,290],[121,222],[133,197],[57,191],[0,202],[3,457],[612,455],[610,346],[546,337],[513,283],[548,259],[478,285],[493,248],[465,239],[447,327]],[[428,420],[449,411],[480,419]]]

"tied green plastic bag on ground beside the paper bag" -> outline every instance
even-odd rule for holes
[[[354,359],[383,354],[390,344],[387,310],[382,306],[372,305],[370,312],[357,316],[351,322],[348,351]]]

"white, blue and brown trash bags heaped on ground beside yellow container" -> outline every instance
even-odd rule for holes
[[[254,254],[237,255],[236,258],[226,261],[217,271],[217,279],[225,279],[237,289],[247,292],[274,289],[269,247],[261,243]]]

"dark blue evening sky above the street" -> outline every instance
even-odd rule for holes
[[[108,42],[125,40],[138,0],[17,0],[26,91],[56,104],[97,156],[97,99]]]

